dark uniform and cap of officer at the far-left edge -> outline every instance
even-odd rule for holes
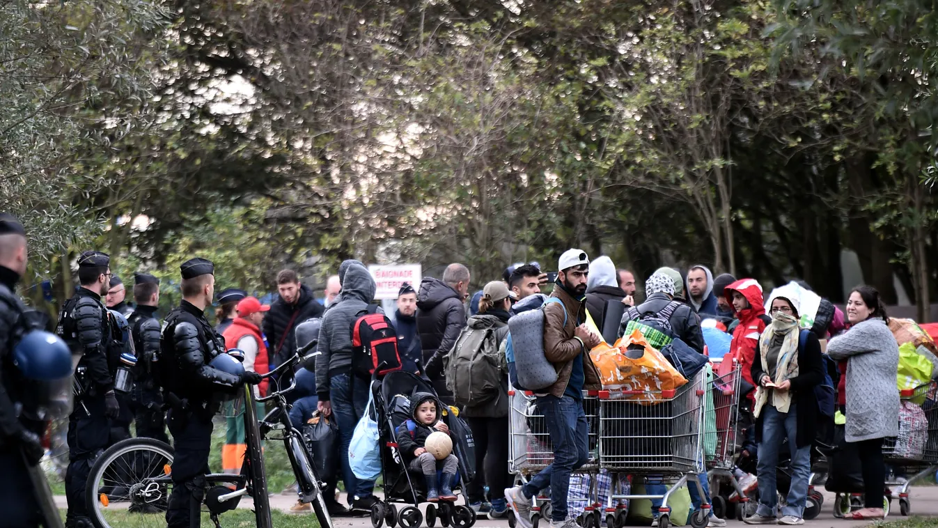
[[[9,215],[0,215],[0,234],[25,236],[23,225]],[[0,266],[0,524],[38,526],[42,522],[36,491],[23,460],[36,464],[42,458],[39,434],[44,424],[18,417],[16,402],[27,387],[18,379],[12,352],[22,336],[23,301],[14,292],[20,276]]]

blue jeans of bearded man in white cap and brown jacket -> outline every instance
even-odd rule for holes
[[[537,398],[537,410],[544,414],[553,445],[553,463],[524,485],[524,494],[534,497],[551,488],[551,520],[567,520],[567,490],[570,473],[589,460],[589,426],[581,400],[568,396]]]

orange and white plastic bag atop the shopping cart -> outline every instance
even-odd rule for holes
[[[632,359],[626,355],[632,344],[643,347],[643,355]],[[642,332],[633,331],[615,342],[599,343],[589,353],[599,370],[599,379],[604,389],[643,391],[647,395],[629,395],[629,400],[659,400],[664,390],[673,390],[688,383],[668,360],[644,339]]]

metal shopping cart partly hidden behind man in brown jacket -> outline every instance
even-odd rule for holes
[[[508,398],[511,399],[508,470],[512,475],[517,475],[520,481],[526,482],[551,465],[553,461],[551,435],[547,430],[544,415],[537,410],[537,398],[534,393],[509,387]],[[589,519],[592,520],[593,511],[598,507],[598,490],[594,478],[598,471],[598,392],[583,391],[582,402],[586,421],[589,424],[590,457],[589,461],[574,473],[590,476],[589,505],[586,505],[580,520],[583,526],[591,526],[592,524],[586,524],[586,517],[589,515]],[[596,518],[598,519],[598,516]],[[550,497],[543,492],[535,497],[532,503],[531,522],[534,528],[537,528],[541,519],[545,522],[550,522],[551,519]],[[508,525],[511,528],[515,526],[515,519],[510,515]]]

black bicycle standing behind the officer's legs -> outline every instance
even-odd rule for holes
[[[310,342],[280,367],[262,375],[262,378],[270,378],[273,388],[276,376],[315,355],[303,356],[315,345],[315,341]],[[285,395],[295,386],[294,379],[289,387],[280,390],[278,386],[278,390],[256,400],[252,387],[244,387],[247,452],[241,473],[210,474],[204,477],[203,505],[208,509],[216,528],[220,528],[219,515],[237,507],[245,495],[253,498],[257,527],[272,528],[261,448],[265,440],[283,442],[298,483],[300,501],[312,503],[322,528],[333,528],[322,492],[325,483],[316,474],[302,434],[290,422],[290,405]],[[263,420],[257,418],[255,401],[274,403],[274,408]],[[268,437],[275,431],[280,435]],[[91,467],[85,490],[92,523],[97,528],[126,525],[165,527],[168,499],[173,490],[173,457],[172,446],[149,438],[130,438],[105,450]]]

